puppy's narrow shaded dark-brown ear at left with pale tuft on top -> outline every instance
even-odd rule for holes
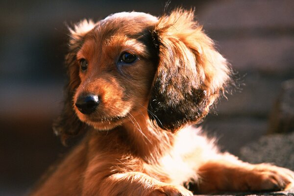
[[[73,109],[73,96],[76,88],[80,84],[79,65],[76,60],[76,53],[83,44],[84,36],[95,24],[92,21],[83,20],[70,30],[69,52],[65,57],[65,64],[69,81],[64,89],[64,105],[61,115],[54,121],[53,130],[56,135],[60,135],[63,143],[69,137],[73,137],[87,127],[76,116]]]

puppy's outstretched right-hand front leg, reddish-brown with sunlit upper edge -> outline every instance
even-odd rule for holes
[[[198,170],[198,192],[279,191],[294,183],[294,172],[270,164],[249,164],[228,153],[207,161]]]

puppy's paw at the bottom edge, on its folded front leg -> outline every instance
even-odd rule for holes
[[[153,190],[149,196],[193,196],[193,194],[182,186],[164,185]]]

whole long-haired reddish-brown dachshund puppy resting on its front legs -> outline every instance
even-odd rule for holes
[[[193,11],[84,20],[70,29],[66,65],[54,130],[63,141],[87,133],[33,196],[192,196],[294,182],[290,170],[221,153],[193,126],[232,83]]]

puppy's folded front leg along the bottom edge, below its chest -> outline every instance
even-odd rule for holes
[[[83,196],[193,196],[182,186],[160,182],[141,172],[112,174],[95,187],[88,187]]]

